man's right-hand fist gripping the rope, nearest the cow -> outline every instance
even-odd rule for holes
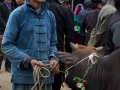
[[[59,63],[56,60],[50,60],[50,71],[58,74],[59,70]]]

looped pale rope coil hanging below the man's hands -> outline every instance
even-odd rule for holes
[[[50,64],[46,64],[45,67],[40,67],[38,65],[34,66],[33,70],[33,79],[34,79],[34,86],[31,90],[42,90],[43,85],[45,84],[46,79],[50,76],[50,71],[46,67],[50,66]],[[40,78],[42,78],[42,82],[40,83]],[[38,87],[37,87],[38,85]],[[45,88],[47,90],[47,84],[45,84]]]

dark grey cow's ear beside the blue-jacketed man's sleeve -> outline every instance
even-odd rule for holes
[[[65,64],[74,64],[72,54],[70,53],[57,51],[55,52],[55,56]]]

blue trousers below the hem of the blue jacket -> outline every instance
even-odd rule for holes
[[[33,86],[34,85],[32,85],[32,84],[12,83],[12,90],[31,90]],[[37,90],[39,90],[39,89],[37,89]],[[47,85],[43,86],[42,90],[52,90],[52,84],[47,84]]]

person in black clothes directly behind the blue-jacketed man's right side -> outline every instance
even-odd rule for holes
[[[64,0],[61,0],[65,2]],[[67,0],[68,1],[68,0]],[[70,42],[74,42],[74,24],[69,10],[61,5],[59,0],[49,2],[49,10],[55,15],[57,26],[57,49],[71,53]],[[64,64],[59,62],[60,71],[64,71]],[[60,90],[64,73],[55,74],[53,90]]]

